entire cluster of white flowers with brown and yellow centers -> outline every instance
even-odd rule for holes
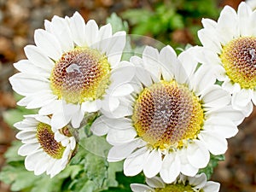
[[[255,18],[246,3],[237,13],[226,6],[217,22],[202,20],[202,46],[178,56],[169,45],[146,46],[130,61],[121,61],[125,32],[113,34],[110,24],[85,24],[79,13],[46,20],[9,79],[24,96],[20,106],[39,108],[15,124],[26,169],[61,172],[76,149],[70,130],[98,113],[90,130],[113,145],[108,161],[124,160],[126,176],[147,177],[150,187],[132,184],[133,191],[218,191],[196,174],[210,154],[225,153],[256,104]]]

